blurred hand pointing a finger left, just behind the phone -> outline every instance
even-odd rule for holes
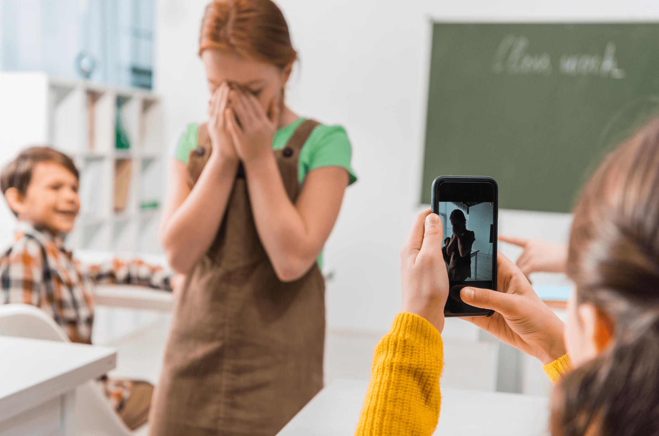
[[[529,277],[530,273],[564,273],[567,265],[567,246],[542,239],[513,238],[499,235],[499,240],[514,244],[524,251],[517,259],[517,267]]]

